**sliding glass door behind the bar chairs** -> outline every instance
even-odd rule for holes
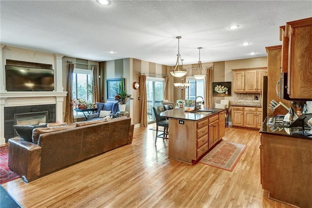
[[[155,122],[153,106],[161,105],[164,99],[165,79],[163,78],[146,78],[147,93],[147,123]]]

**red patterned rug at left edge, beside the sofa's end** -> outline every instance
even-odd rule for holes
[[[0,147],[0,184],[4,184],[6,182],[12,181],[14,179],[20,178],[20,175],[10,170],[8,167],[8,146]]]

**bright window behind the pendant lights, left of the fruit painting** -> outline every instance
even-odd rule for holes
[[[186,78],[187,83],[191,83],[189,88],[185,90],[185,99],[186,100],[195,100],[197,96],[201,96],[204,98],[204,80],[196,80],[193,77]]]

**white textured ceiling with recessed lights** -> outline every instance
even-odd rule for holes
[[[217,62],[266,56],[266,46],[281,44],[279,26],[308,17],[312,0],[1,0],[0,42],[98,62],[175,65],[182,36],[184,64],[198,62],[197,47],[202,62]]]

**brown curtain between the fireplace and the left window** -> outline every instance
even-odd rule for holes
[[[66,110],[64,122],[67,124],[74,123],[74,112],[72,103],[72,91],[73,91],[73,73],[74,73],[74,63],[68,64],[68,75],[67,75],[67,97],[66,97]]]

